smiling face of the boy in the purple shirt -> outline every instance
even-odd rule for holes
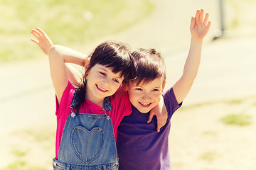
[[[161,93],[164,90],[163,79],[157,78],[148,84],[142,81],[138,86],[136,82],[129,82],[128,94],[132,105],[141,113],[148,113],[158,105]]]

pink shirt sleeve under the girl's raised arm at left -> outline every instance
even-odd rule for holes
[[[75,87],[68,81],[68,85],[63,91],[63,95],[60,99],[60,104],[58,104],[57,96],[55,95],[55,103],[56,103],[56,111],[55,115],[57,118],[60,118],[62,113],[68,112],[70,110],[70,105],[72,102],[72,98],[75,92]]]

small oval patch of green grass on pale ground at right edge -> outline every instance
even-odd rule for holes
[[[226,125],[250,125],[252,124],[252,116],[244,113],[230,114],[220,119]]]

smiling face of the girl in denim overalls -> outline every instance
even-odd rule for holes
[[[122,84],[124,77],[120,72],[114,74],[111,67],[95,64],[90,69],[86,84],[86,98],[98,105],[105,97],[112,96]]]

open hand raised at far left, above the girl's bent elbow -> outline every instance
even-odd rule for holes
[[[53,42],[50,40],[48,35],[46,35],[46,33],[43,32],[43,30],[41,30],[40,28],[36,28],[36,30],[32,29],[31,34],[33,34],[37,39],[35,40],[31,38],[31,41],[35,42],[41,48],[41,50],[46,55],[48,55],[50,47],[53,46]]]

